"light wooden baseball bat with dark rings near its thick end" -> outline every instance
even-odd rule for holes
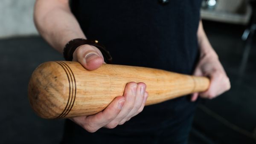
[[[78,62],[42,63],[28,86],[29,102],[42,118],[69,118],[102,111],[128,82],[147,85],[146,105],[157,104],[193,92],[203,92],[209,79],[138,66],[103,64],[89,71]]]

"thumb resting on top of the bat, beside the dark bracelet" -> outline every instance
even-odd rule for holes
[[[79,46],[73,53],[73,61],[78,61],[88,70],[98,69],[104,63],[99,49],[90,45]]]

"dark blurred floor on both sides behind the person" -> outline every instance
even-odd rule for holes
[[[189,144],[255,144],[256,43],[244,75],[239,76],[244,49],[240,37],[244,27],[210,22],[204,22],[204,27],[232,88],[214,100],[201,101]],[[63,58],[41,37],[0,40],[1,144],[57,144],[60,141],[64,121],[39,118],[27,99],[29,76],[36,66],[50,60]]]

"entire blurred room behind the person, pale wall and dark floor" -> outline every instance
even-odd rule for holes
[[[39,118],[27,84],[45,61],[64,60],[33,24],[35,0],[0,0],[0,144],[58,144],[64,120]],[[204,29],[231,81],[230,91],[201,100],[189,144],[256,143],[256,0],[203,0]]]

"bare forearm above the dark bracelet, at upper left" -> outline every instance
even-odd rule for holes
[[[38,32],[58,52],[75,38],[86,38],[70,11],[68,0],[37,0],[34,21]]]

